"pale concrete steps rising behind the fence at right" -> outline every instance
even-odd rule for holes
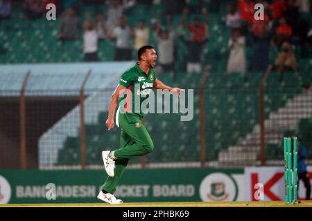
[[[300,107],[300,111],[298,111]],[[266,144],[281,144],[284,131],[297,129],[301,118],[312,117],[312,87],[286,102],[286,106],[270,113],[264,124]],[[236,145],[218,154],[218,166],[257,166],[260,153],[260,126],[240,138]]]

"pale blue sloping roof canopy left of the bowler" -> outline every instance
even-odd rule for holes
[[[27,73],[26,96],[79,95],[87,73],[85,93],[107,88],[107,81],[120,76],[134,61],[66,63],[66,64],[14,64],[0,65],[0,97],[19,96]]]

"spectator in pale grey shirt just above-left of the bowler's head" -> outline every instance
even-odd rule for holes
[[[127,61],[132,59],[131,39],[134,33],[132,27],[127,23],[125,16],[119,18],[119,25],[114,28],[110,39],[116,40],[115,61]]]

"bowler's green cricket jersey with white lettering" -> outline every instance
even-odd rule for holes
[[[141,110],[141,104],[149,97],[150,93],[153,93],[154,81],[154,70],[150,68],[148,75],[146,75],[138,64],[121,75],[119,84],[131,91],[131,96],[127,94],[126,97],[121,97],[121,99],[119,99],[119,104],[121,104],[121,101],[125,102],[125,112],[137,113],[141,116],[144,115]]]

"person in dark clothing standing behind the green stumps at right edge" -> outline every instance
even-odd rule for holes
[[[310,176],[309,173],[306,171],[306,147],[304,145],[300,145],[298,150],[298,192],[299,192],[299,182],[302,180],[304,183],[304,187],[306,188],[306,200],[310,200],[311,195],[311,184],[310,184]]]

